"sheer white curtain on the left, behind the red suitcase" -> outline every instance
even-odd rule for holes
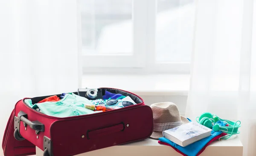
[[[18,100],[77,90],[77,18],[76,0],[0,1],[1,143]]]

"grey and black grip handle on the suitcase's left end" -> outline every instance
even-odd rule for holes
[[[25,127],[26,125],[29,125],[29,127],[32,128],[33,130],[44,132],[44,124],[42,124],[39,121],[30,121],[29,119],[27,119],[27,116],[28,115],[23,111],[20,111],[18,113],[18,118],[20,119],[20,121],[23,121]]]

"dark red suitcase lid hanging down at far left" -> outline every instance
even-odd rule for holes
[[[6,130],[3,135],[3,153],[4,156],[29,156],[35,155],[35,145],[24,139],[23,141],[18,141],[14,138],[14,110],[9,117],[6,125]]]

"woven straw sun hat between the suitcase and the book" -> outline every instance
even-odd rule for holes
[[[177,106],[172,102],[154,103],[151,106],[154,119],[154,130],[150,136],[153,139],[163,137],[163,131],[189,123],[189,120],[180,116]]]

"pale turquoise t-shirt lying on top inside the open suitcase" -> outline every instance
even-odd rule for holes
[[[63,99],[57,102],[42,102],[35,105],[32,105],[31,99],[25,99],[25,102],[31,108],[39,108],[40,112],[55,117],[78,116],[99,112],[85,108],[85,104],[91,105],[91,102],[73,93],[66,94]]]

